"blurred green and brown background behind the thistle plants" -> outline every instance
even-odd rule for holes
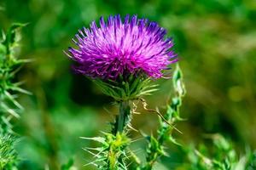
[[[82,26],[109,14],[138,14],[160,23],[174,37],[187,95],[177,127],[183,144],[197,143],[206,133],[222,133],[238,150],[256,149],[256,1],[254,0],[1,0],[0,28],[13,22],[29,23],[22,30],[20,57],[33,59],[23,67],[19,80],[32,96],[20,96],[26,111],[16,121],[21,139],[17,150],[20,169],[58,169],[69,159],[78,169],[91,161],[82,150],[95,146],[80,136],[108,131],[117,112],[112,100],[92,82],[76,75],[63,54]],[[172,80],[160,80],[160,91],[147,97],[151,107],[164,111],[172,94]],[[154,132],[157,116],[138,109],[133,127]],[[131,137],[141,138],[136,132]],[[142,149],[144,141],[133,147]],[[162,158],[172,169],[182,154],[171,147]]]

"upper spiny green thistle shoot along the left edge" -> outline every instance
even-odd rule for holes
[[[30,94],[20,88],[21,82],[14,82],[15,74],[19,71],[24,59],[15,57],[15,47],[20,41],[20,28],[26,26],[23,24],[14,24],[10,27],[7,34],[2,32],[0,40],[0,116],[2,119],[8,116],[20,117],[19,112],[23,107],[17,102],[16,94]],[[6,113],[9,113],[7,115]],[[9,119],[9,118],[8,118]]]

